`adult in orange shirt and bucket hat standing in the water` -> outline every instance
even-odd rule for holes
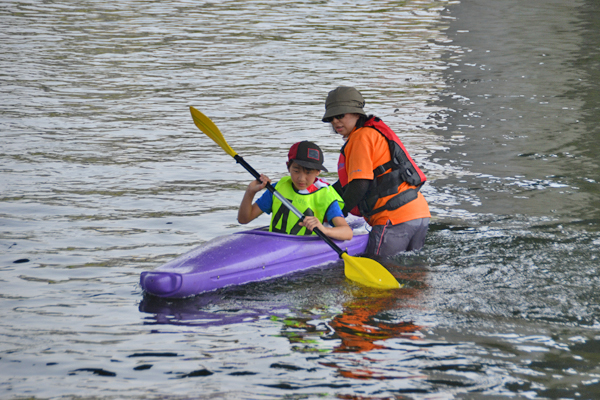
[[[342,135],[345,144],[334,187],[344,200],[344,215],[362,215],[371,225],[366,253],[388,257],[419,250],[425,243],[431,214],[419,191],[425,175],[396,134],[368,115],[353,87],[329,92],[323,122]]]

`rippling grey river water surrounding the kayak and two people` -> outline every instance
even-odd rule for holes
[[[596,0],[0,4],[0,397],[600,397]],[[425,248],[167,301],[139,274],[246,229],[327,92],[423,166]],[[325,174],[331,181],[335,173]],[[266,216],[250,224],[266,225]]]

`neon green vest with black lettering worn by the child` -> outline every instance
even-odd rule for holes
[[[331,203],[335,200],[343,207],[342,198],[335,191],[333,186],[320,188],[316,192],[301,194],[294,190],[292,178],[285,176],[277,182],[277,191],[288,199],[294,207],[306,216],[314,216],[321,223],[325,219],[325,214]],[[271,214],[271,225],[269,231],[287,233],[289,235],[314,235],[314,232],[307,232],[306,228],[299,225],[300,218],[291,212],[286,206],[273,196],[273,211]]]

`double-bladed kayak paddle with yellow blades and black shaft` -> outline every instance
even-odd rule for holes
[[[196,110],[194,107],[190,107],[190,112],[192,113],[194,124],[196,124],[196,126],[202,132],[214,140],[215,143],[225,150],[227,154],[233,157],[238,164],[241,164],[242,167],[252,174],[252,176],[260,181],[260,174],[256,172],[254,168],[252,168],[229,146],[219,128],[217,128],[210,118]],[[273,193],[273,195],[277,197],[283,203],[283,205],[285,205],[291,212],[300,218],[300,220],[304,219],[304,214],[298,211],[298,209],[294,207],[288,199],[283,197],[283,195],[279,193],[273,187],[273,185],[268,183],[266,188]],[[400,287],[400,284],[396,278],[394,278],[394,276],[377,261],[364,257],[352,257],[348,255],[347,252],[340,249],[327,235],[325,235],[319,229],[314,229],[313,232],[323,239],[325,243],[335,250],[340,258],[344,260],[344,273],[346,278],[362,285],[379,289],[397,289]]]

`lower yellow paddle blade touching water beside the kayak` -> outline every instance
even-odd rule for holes
[[[372,288],[400,288],[400,283],[396,278],[377,261],[364,257],[352,257],[347,253],[343,253],[342,258],[344,259],[346,278]]]

